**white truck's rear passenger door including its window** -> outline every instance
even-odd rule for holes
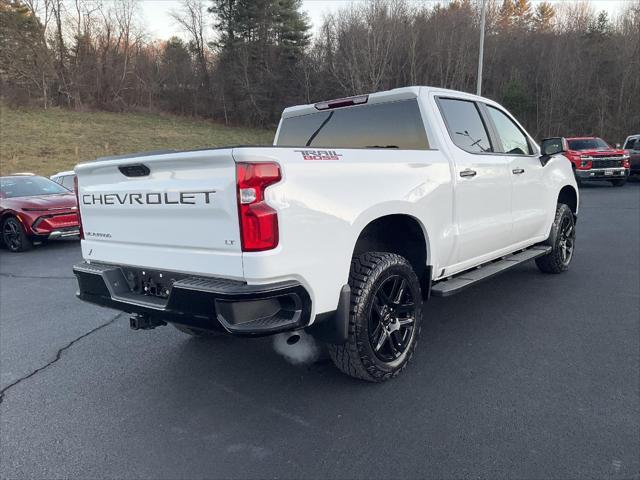
[[[437,103],[454,144],[459,270],[511,244],[509,159],[495,154],[476,102],[439,97]]]

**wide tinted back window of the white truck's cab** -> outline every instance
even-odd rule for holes
[[[429,148],[416,100],[359,105],[282,120],[281,147]]]

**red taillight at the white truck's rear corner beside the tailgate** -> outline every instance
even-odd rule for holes
[[[264,191],[281,178],[277,163],[236,164],[242,251],[260,252],[278,246],[278,214],[264,201]]]

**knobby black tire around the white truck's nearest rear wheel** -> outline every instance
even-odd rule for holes
[[[372,309],[376,308],[373,305],[373,302],[376,301],[374,297],[382,289],[384,282],[389,279],[395,281],[396,278],[405,281],[402,285],[407,289],[405,295],[408,297],[405,298],[410,298],[414,305],[414,323],[411,334],[407,333],[406,341],[403,340],[403,353],[394,361],[384,361],[374,351],[370,340],[369,316],[373,314]],[[351,377],[370,382],[383,382],[396,377],[411,360],[420,337],[422,292],[417,275],[409,262],[400,255],[368,252],[351,260],[349,286],[351,287],[351,305],[348,339],[342,345],[331,344],[328,346],[331,359],[338,369]],[[392,288],[395,288],[395,284]],[[399,289],[401,288],[402,286],[399,287]],[[387,339],[393,343],[390,336],[389,334]]]

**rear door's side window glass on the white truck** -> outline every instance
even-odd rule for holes
[[[470,153],[493,152],[489,134],[474,102],[439,98],[438,105],[453,143]]]

